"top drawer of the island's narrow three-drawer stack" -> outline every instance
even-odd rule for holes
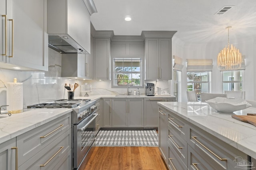
[[[188,129],[188,125],[186,121],[170,111],[168,113],[169,114],[168,114],[167,125],[172,127],[173,131],[186,141],[187,129]]]

